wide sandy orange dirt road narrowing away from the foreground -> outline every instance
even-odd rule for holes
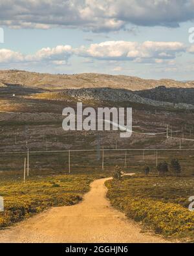
[[[107,179],[91,183],[80,204],[54,207],[0,231],[0,242],[166,242],[111,207]]]

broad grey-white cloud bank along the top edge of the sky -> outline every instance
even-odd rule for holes
[[[194,19],[193,0],[1,0],[0,25],[48,29],[70,27],[94,32],[125,25],[178,27]]]

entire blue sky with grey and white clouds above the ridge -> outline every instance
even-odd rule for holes
[[[1,0],[0,69],[194,80],[193,27],[194,0]]]

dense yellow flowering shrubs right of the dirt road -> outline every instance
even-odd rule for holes
[[[147,179],[149,181],[149,178]],[[107,181],[106,185],[109,189],[107,196],[111,200],[111,204],[124,211],[129,218],[133,218],[137,222],[141,221],[144,225],[151,227],[155,233],[166,237],[193,239],[194,213],[190,212],[188,207],[173,203],[171,198],[175,194],[171,196],[169,193],[169,202],[167,202],[167,194],[165,201],[162,200],[163,198],[155,198],[154,188],[152,191],[149,190],[148,194],[146,188],[149,188],[151,180],[146,183],[147,185],[144,184],[146,194],[144,196],[144,191],[141,191],[140,188],[143,185],[138,181],[140,181],[139,178],[125,178],[124,181],[119,182]],[[162,193],[161,188],[160,192]]]

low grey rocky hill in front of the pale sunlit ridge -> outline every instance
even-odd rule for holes
[[[85,102],[122,102],[122,103],[135,103],[147,106],[154,106],[158,108],[168,109],[187,109],[193,110],[193,104],[186,104],[183,102],[167,102],[166,100],[152,100],[146,97],[137,95],[134,91],[127,89],[113,89],[113,88],[81,88],[81,89],[64,89],[56,92],[38,93],[32,98],[34,99],[53,99],[65,100],[76,99]]]

